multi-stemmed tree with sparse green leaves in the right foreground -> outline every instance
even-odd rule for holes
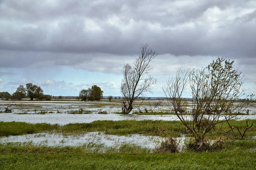
[[[236,117],[236,113],[245,109],[245,103],[234,104],[243,95],[243,76],[233,69],[233,63],[218,58],[205,69],[179,69],[163,87],[169,106],[188,132],[194,135],[199,147],[205,140],[205,134],[216,124]],[[190,88],[192,93],[190,111],[188,103],[182,98],[186,88]]]

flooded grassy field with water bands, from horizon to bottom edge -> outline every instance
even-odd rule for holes
[[[230,121],[252,128],[221,135],[221,150],[186,149],[191,136],[164,101],[137,101],[133,114],[123,115],[121,100],[0,101],[0,169],[254,169],[256,168],[255,105],[249,115]],[[11,113],[5,113],[7,106]],[[150,113],[139,115],[144,109]],[[82,109],[82,113],[81,113]],[[228,124],[218,125],[223,131]],[[209,143],[220,136],[212,131]],[[156,152],[167,137],[179,153]]]

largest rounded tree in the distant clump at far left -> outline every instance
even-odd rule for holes
[[[43,90],[40,86],[36,86],[35,84],[32,83],[27,83],[26,84],[26,90],[27,90],[27,95],[30,97],[31,100],[33,99],[43,99]]]

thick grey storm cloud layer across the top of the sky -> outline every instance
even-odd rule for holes
[[[253,8],[254,1],[2,1],[0,47],[135,54],[148,42],[160,54],[253,57]]]

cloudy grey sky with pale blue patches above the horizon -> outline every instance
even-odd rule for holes
[[[245,94],[256,94],[254,0],[0,0],[0,92],[33,83],[78,96],[97,85],[121,96],[121,69],[146,43],[158,53],[150,63],[158,82],[144,96],[164,96],[178,68],[218,57],[234,61]]]

